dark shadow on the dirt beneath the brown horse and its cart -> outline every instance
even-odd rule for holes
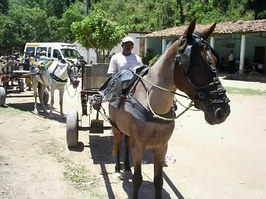
[[[94,164],[99,164],[101,168],[101,173],[104,178],[105,187],[108,193],[108,198],[114,199],[115,194],[113,191],[112,186],[112,180],[113,175],[115,174],[115,158],[112,156],[112,143],[113,143],[113,136],[104,136],[102,134],[90,134],[89,135],[89,145],[85,145],[85,147],[90,148],[90,153],[93,159]],[[121,161],[124,160],[124,143],[122,142],[121,145]],[[145,153],[143,158],[143,166],[145,164],[152,164],[153,163],[153,155],[151,151],[148,151]],[[130,162],[132,163],[132,158],[130,157]],[[106,165],[112,164],[113,171],[108,172]],[[132,164],[131,164],[132,165]],[[123,162],[121,164],[122,169],[124,168]],[[133,171],[133,168],[131,167],[131,170]],[[144,176],[145,173],[142,173]],[[178,189],[174,186],[174,184],[171,182],[169,177],[163,173],[163,178],[165,179],[165,182],[171,187],[173,192],[178,196],[177,198],[183,199],[184,197],[181,195],[181,193],[178,191]],[[131,172],[124,172],[121,171],[120,179],[122,180],[122,187],[127,193],[128,198],[133,197],[133,183],[132,183],[132,173]],[[155,198],[154,195],[154,185],[153,185],[153,179],[150,181],[143,181],[141,188],[139,190],[139,198]],[[170,198],[169,193],[163,189],[162,196],[165,199]]]

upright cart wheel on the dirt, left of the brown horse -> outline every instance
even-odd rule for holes
[[[78,146],[78,112],[69,111],[66,119],[67,146]]]

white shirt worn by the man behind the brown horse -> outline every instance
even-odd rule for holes
[[[130,54],[125,56],[122,52],[112,56],[107,74],[113,74],[125,69],[129,69],[133,66],[141,66],[142,61],[138,55]]]

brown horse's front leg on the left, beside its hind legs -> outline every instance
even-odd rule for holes
[[[139,151],[137,147],[132,146],[133,164],[134,164],[134,174],[133,174],[133,188],[134,194],[133,198],[138,198],[139,188],[142,184],[142,174],[141,174],[141,161],[143,158],[143,151]]]

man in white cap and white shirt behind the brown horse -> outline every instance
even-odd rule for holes
[[[133,66],[141,66],[142,61],[138,55],[131,52],[134,48],[134,40],[132,37],[122,39],[122,52],[112,56],[107,73],[114,74]]]

